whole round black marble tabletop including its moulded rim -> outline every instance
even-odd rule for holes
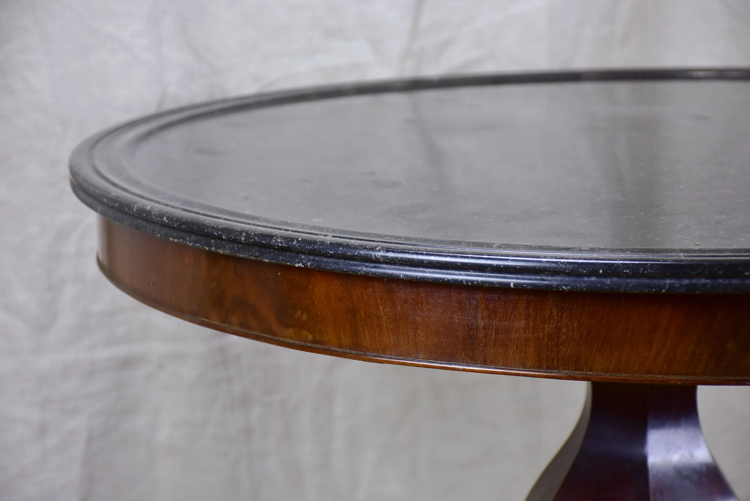
[[[750,71],[278,92],[83,142],[77,195],[212,251],[501,287],[750,292]]]

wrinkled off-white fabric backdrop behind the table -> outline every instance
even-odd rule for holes
[[[211,98],[413,74],[750,64],[747,1],[0,0],[0,499],[507,499],[582,383],[296,353],[166,317],[95,266],[67,157]],[[750,389],[701,389],[750,498]]]

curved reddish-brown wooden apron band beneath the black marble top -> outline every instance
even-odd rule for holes
[[[100,218],[125,292],[213,329],[373,362],[572,380],[750,383],[750,295],[580,293],[265,263]]]

